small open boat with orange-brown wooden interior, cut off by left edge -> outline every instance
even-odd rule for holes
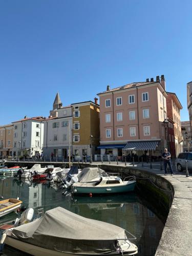
[[[16,211],[23,202],[19,199],[6,199],[0,201],[0,217],[9,214],[12,211]]]

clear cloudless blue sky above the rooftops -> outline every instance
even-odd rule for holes
[[[164,74],[183,105],[192,80],[191,0],[1,0],[0,125]]]

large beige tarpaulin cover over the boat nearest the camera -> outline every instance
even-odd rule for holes
[[[126,238],[121,227],[81,217],[62,207],[46,211],[39,220],[15,227],[12,236],[46,249],[81,255],[116,252],[116,239]]]

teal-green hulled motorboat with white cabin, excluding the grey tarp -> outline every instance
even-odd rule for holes
[[[126,180],[129,178],[129,180]],[[114,194],[133,191],[136,177],[126,177],[123,181],[119,177],[101,177],[98,182],[73,183],[73,194]]]

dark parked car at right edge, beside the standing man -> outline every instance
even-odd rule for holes
[[[183,172],[186,169],[186,160],[188,170],[192,172],[192,152],[180,153],[176,159],[176,166],[179,172]]]

